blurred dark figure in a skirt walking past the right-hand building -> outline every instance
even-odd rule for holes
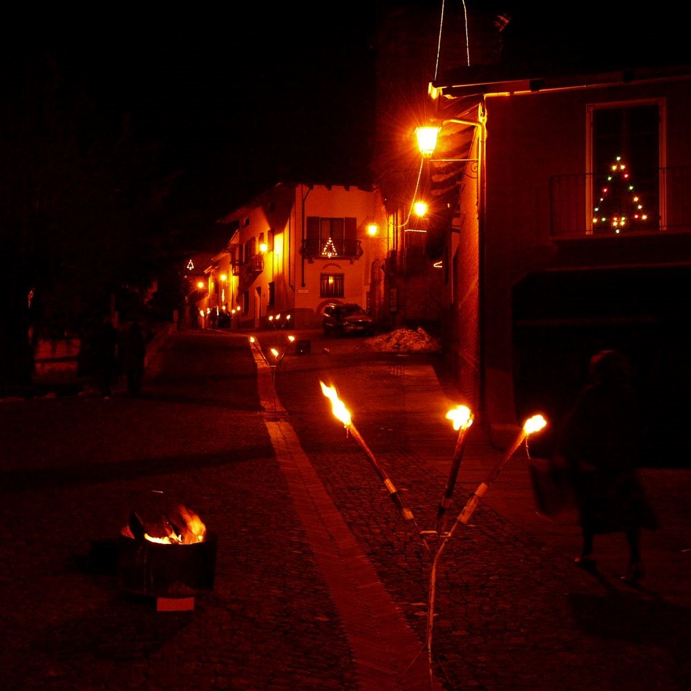
[[[630,362],[616,350],[591,357],[589,381],[560,427],[558,452],[571,472],[583,550],[576,565],[594,572],[594,538],[622,532],[629,564],[622,580],[643,577],[641,529],[658,522],[647,503],[637,471],[641,460],[641,417],[631,381]]]

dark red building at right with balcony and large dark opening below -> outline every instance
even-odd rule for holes
[[[491,424],[556,424],[589,356],[618,348],[660,448],[691,384],[691,70],[495,75],[430,90],[440,135],[481,115],[455,135],[477,163],[444,250],[461,385]]]

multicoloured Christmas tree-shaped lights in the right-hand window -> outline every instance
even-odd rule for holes
[[[647,221],[643,203],[634,190],[630,173],[621,156],[609,167],[607,180],[600,188],[600,199],[593,210],[593,229],[611,229],[615,233],[635,229]]]

